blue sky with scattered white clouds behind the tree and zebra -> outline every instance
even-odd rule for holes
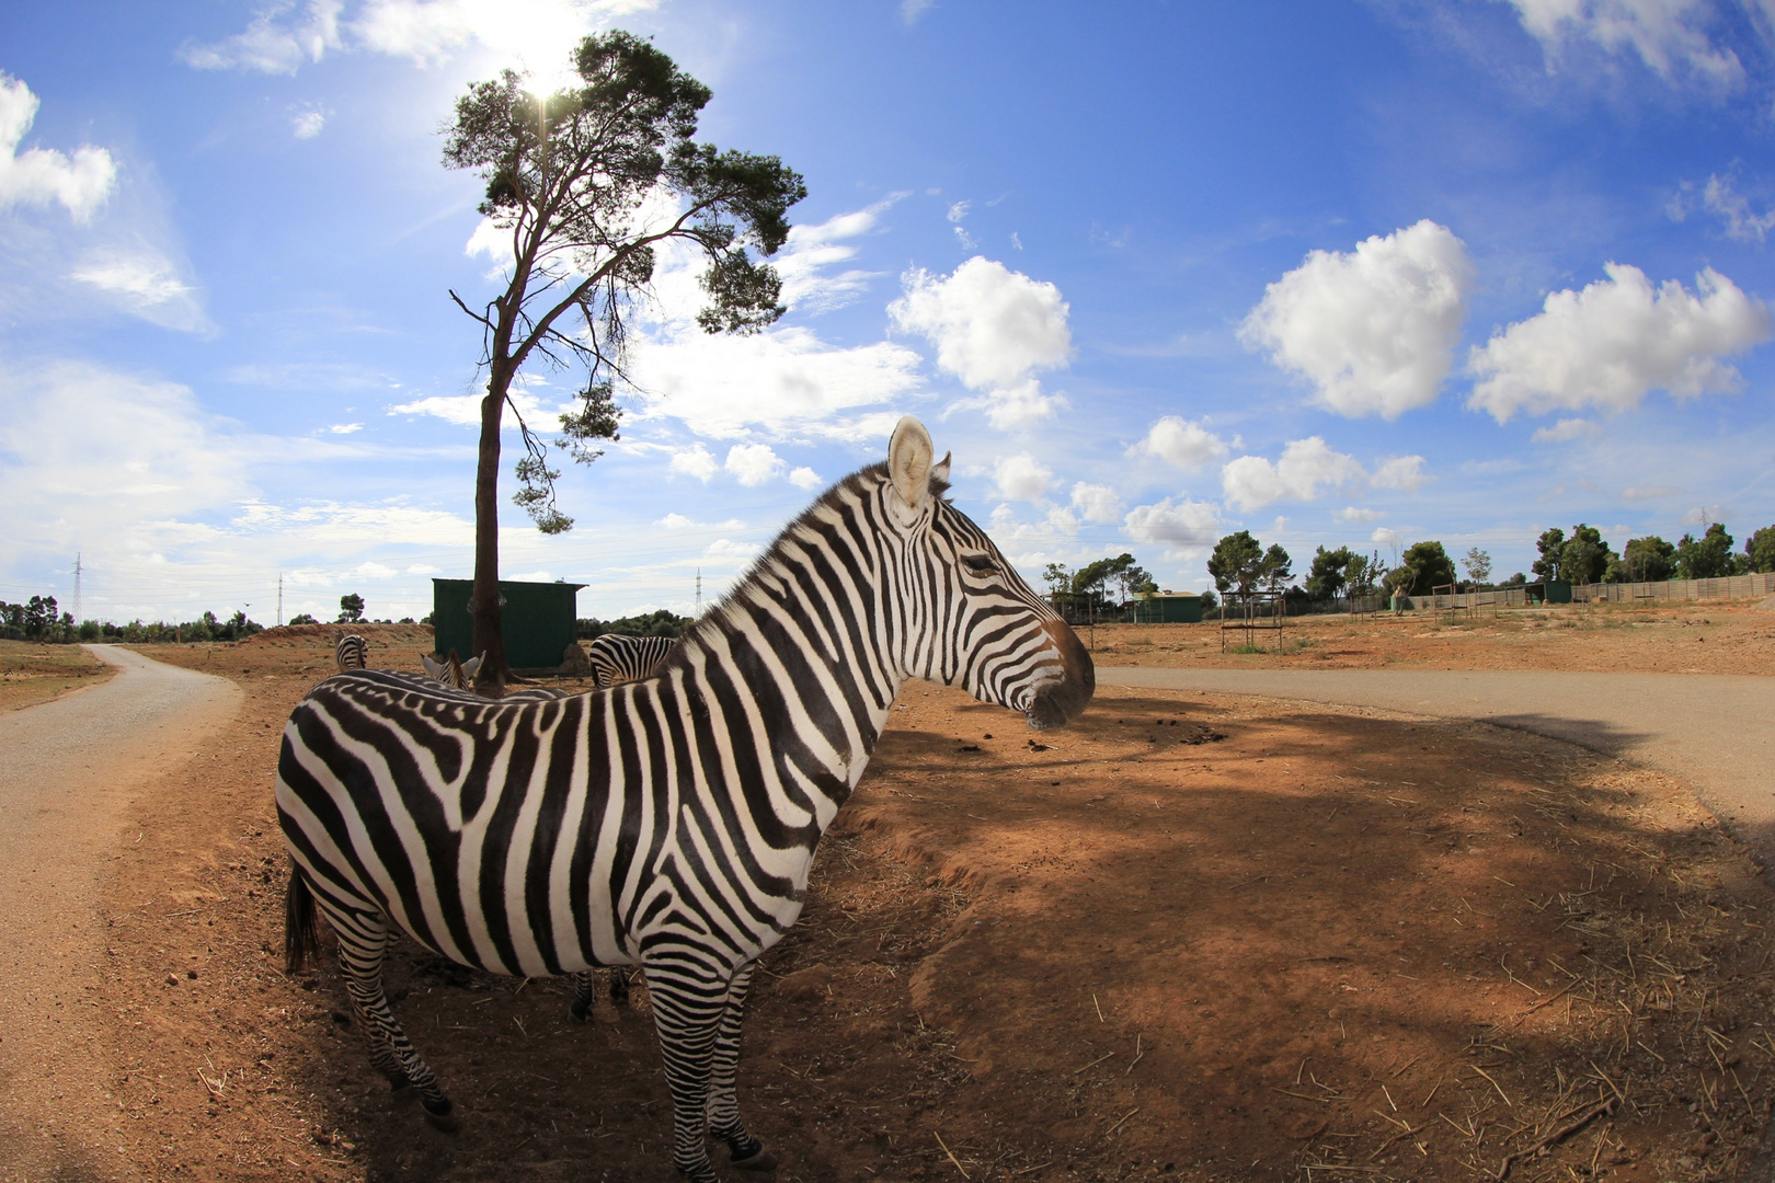
[[[117,621],[467,575],[447,289],[497,259],[438,129],[611,27],[809,197],[790,314],[708,339],[666,259],[577,527],[506,502],[504,575],[582,615],[717,594],[902,413],[1031,578],[1775,521],[1775,0],[7,5],[0,598],[71,607],[76,553]]]

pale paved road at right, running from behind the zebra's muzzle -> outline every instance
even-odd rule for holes
[[[1775,881],[1775,678],[1099,665],[1097,681],[1479,718],[1569,740],[1692,784]]]

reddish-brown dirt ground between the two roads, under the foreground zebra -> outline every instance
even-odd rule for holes
[[[442,1135],[390,1112],[332,961],[282,975],[272,777],[330,631],[151,649],[248,702],[108,890],[144,1172],[674,1178],[644,990],[577,1025],[564,981],[401,947]],[[364,631],[373,665],[430,644]],[[781,1183],[1731,1179],[1771,905],[1683,786],[1523,733],[1102,688],[1037,736],[914,683],[763,961],[742,1109]]]

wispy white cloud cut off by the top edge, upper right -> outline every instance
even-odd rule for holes
[[[1727,46],[1713,44],[1706,0],[1511,0],[1550,62],[1573,43],[1605,57],[1637,57],[1665,82],[1693,80],[1706,89],[1731,90],[1745,67]]]

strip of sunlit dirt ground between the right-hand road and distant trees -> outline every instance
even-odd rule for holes
[[[1507,669],[1640,674],[1775,674],[1775,599],[1731,599],[1638,608],[1562,605],[1496,615],[1434,612],[1289,617],[1278,651],[1241,653],[1242,630],[1202,624],[1111,624],[1081,630],[1102,665],[1196,669]]]

